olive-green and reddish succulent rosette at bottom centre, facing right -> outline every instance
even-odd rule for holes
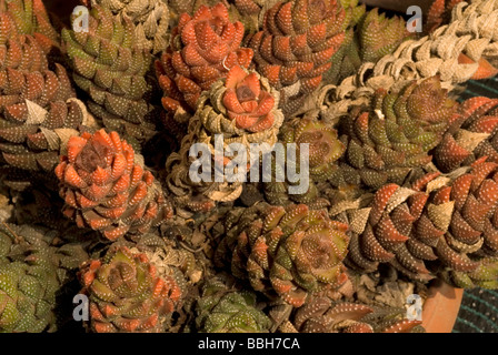
[[[233,276],[249,278],[253,290],[299,307],[310,294],[347,281],[346,230],[323,210],[261,203],[227,217],[215,260],[228,261]]]

